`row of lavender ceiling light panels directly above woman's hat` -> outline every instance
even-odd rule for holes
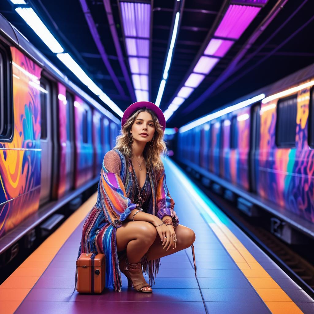
[[[120,2],[122,30],[137,101],[149,100],[151,5]]]

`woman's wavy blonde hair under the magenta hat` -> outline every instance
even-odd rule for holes
[[[164,156],[165,154],[168,154],[168,150],[166,147],[166,142],[164,140],[164,131],[160,126],[157,116],[155,115],[154,111],[151,111],[146,107],[134,111],[132,115],[127,119],[127,121],[123,124],[123,127],[120,130],[120,135],[118,135],[116,138],[116,146],[113,149],[118,149],[121,151],[122,154],[131,156],[132,142],[130,142],[130,130],[138,114],[142,111],[147,111],[151,114],[155,125],[155,134],[152,138],[154,140],[154,146],[150,146],[149,142],[147,142],[143,151],[143,156],[146,160],[147,167],[155,168],[155,170],[158,171],[163,167],[161,155]]]

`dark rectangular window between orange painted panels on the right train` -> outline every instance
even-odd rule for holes
[[[276,144],[295,146],[297,95],[279,99],[277,103]]]

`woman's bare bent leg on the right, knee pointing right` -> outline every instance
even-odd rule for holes
[[[152,244],[152,246],[150,246],[149,250],[146,253],[146,257],[149,261],[184,250],[187,247],[191,246],[195,241],[194,231],[190,228],[187,228],[183,225],[178,225],[175,228],[175,232],[177,239],[176,248],[173,249],[172,247],[170,247],[169,250],[166,251],[166,249],[164,249],[162,245],[160,237],[157,236],[154,243]]]

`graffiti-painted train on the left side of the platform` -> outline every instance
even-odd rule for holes
[[[97,184],[120,120],[69,81],[1,15],[0,69],[4,254],[30,232],[34,240],[37,225]],[[17,251],[15,247],[15,253],[1,258],[2,263]]]

